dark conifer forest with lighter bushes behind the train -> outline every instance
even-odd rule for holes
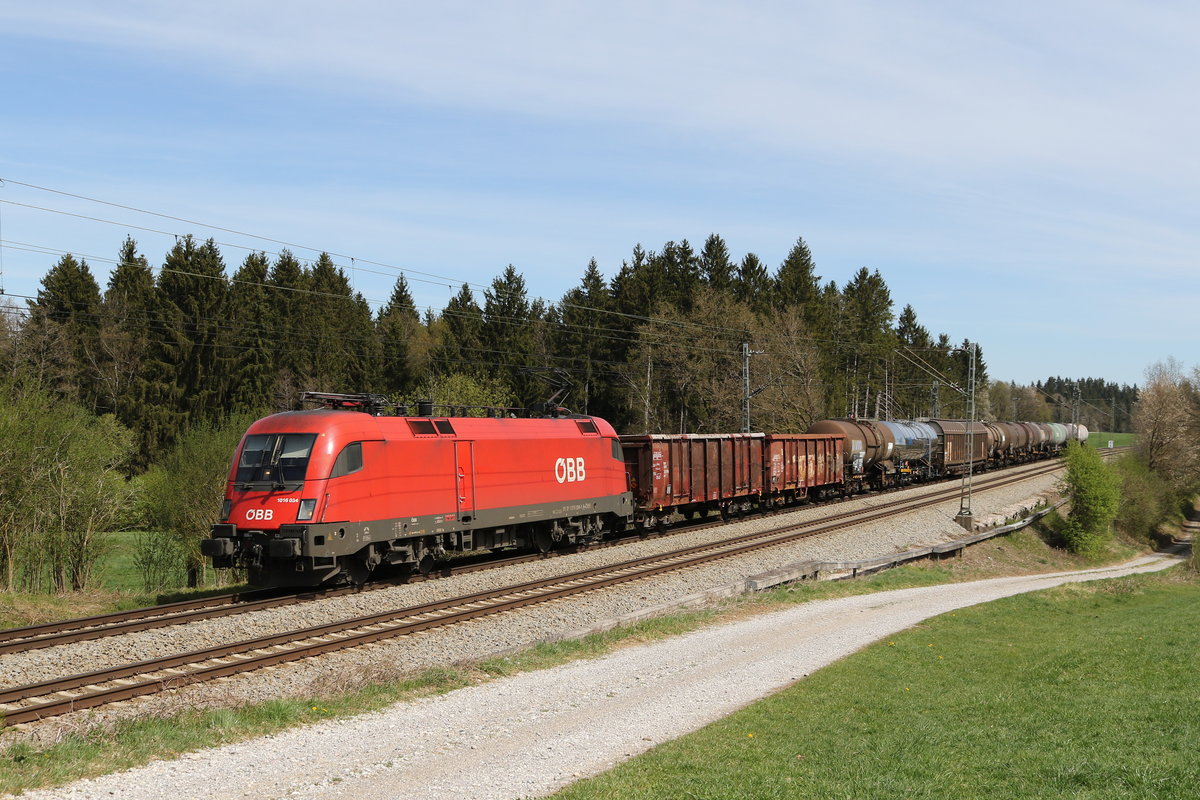
[[[194,583],[193,545],[238,435],[298,408],[306,390],[466,407],[529,407],[560,391],[560,404],[623,433],[740,431],[748,393],[755,431],[967,414],[971,343],[929,331],[911,305],[898,311],[877,270],[823,282],[803,239],[776,267],[737,258],[715,234],[698,252],[686,240],[636,246],[611,277],[592,260],[553,302],[510,265],[440,309],[419,309],[402,273],[372,309],[328,254],[257,252],[233,265],[212,240],[186,236],[157,266],[132,239],[115,261],[102,288],[85,260],[64,255],[36,299],[5,307],[10,589],[85,585],[96,533],[122,525],[175,531],[174,557],[161,540],[145,548],[148,584],[169,582],[174,564]],[[1078,415],[1128,429],[1135,387],[990,381],[978,344],[976,356],[978,417]],[[52,557],[32,567],[22,557],[32,552]]]

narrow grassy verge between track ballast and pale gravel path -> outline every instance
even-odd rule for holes
[[[1120,560],[1112,552],[1108,560]],[[721,609],[682,613],[586,637],[542,644],[514,656],[492,658],[469,668],[427,670],[420,675],[360,675],[362,685],[311,687],[301,699],[278,699],[244,709],[182,710],[157,718],[103,728],[82,728],[53,746],[11,744],[0,729],[0,793],[65,783],[170,758],[203,747],[242,741],[328,717],[341,717],[385,708],[415,697],[445,692],[522,670],[541,669],[577,658],[595,657],[619,646],[674,636],[713,621],[737,619],[786,604],[822,597],[931,585],[997,575],[1046,572],[1090,566],[1075,557],[1048,548],[1030,530],[967,551],[962,559],[914,564],[858,581],[803,583],[754,595]]]

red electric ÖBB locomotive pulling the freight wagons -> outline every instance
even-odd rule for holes
[[[260,585],[428,571],[454,552],[586,542],[628,524],[620,441],[604,420],[389,416],[380,396],[317,395],[242,437],[202,552]],[[422,409],[432,411],[432,408]]]

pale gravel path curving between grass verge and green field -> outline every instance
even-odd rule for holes
[[[361,717],[156,762],[29,798],[509,799],[718,720],[929,616],[1178,558],[808,603]]]

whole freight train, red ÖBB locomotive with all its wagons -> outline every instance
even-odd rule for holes
[[[362,583],[452,554],[547,552],[1050,456],[1082,426],[824,420],[804,434],[617,435],[595,416],[415,415],[376,395],[258,420],[200,551],[251,583]]]

